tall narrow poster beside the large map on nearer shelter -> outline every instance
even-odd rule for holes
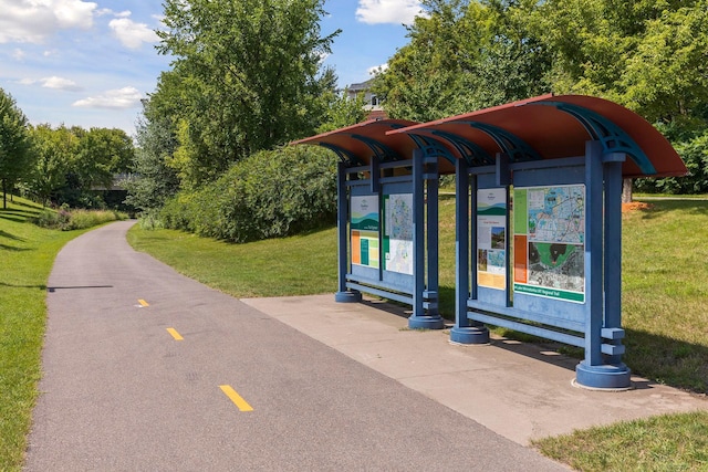
[[[477,284],[507,287],[507,189],[477,191]]]

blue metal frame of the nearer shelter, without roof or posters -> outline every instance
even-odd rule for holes
[[[456,322],[450,342],[488,343],[481,323],[511,328],[546,339],[583,347],[585,358],[576,367],[576,382],[597,389],[631,387],[631,371],[622,363],[624,346],[621,327],[622,270],[622,162],[624,153],[605,153],[598,140],[589,141],[583,158],[543,160],[457,168]],[[502,156],[498,156],[503,160]],[[552,171],[539,171],[548,169]],[[513,172],[510,175],[500,174]],[[469,176],[468,176],[469,175]],[[469,183],[468,183],[469,177]],[[507,261],[507,290],[479,286],[477,281],[477,189],[517,187],[585,186],[585,296],[583,303],[544,298],[514,292],[509,298],[512,279]],[[470,197],[468,195],[471,188]],[[517,211],[521,211],[517,209]],[[469,219],[466,217],[470,214]],[[468,244],[468,234],[471,239]],[[509,225],[507,225],[509,228]],[[511,239],[507,238],[510,254]],[[471,255],[471,268],[470,268]],[[471,282],[471,284],[470,284]]]

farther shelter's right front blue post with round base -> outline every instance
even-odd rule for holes
[[[445,323],[440,315],[426,316],[425,296],[425,155],[413,151],[413,315],[408,317],[412,329],[440,329]]]

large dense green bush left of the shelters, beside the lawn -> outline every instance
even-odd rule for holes
[[[309,146],[258,153],[214,183],[178,193],[160,212],[166,228],[233,242],[299,233],[335,216],[336,158]]]

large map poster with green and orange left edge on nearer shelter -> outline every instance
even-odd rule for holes
[[[514,291],[585,303],[585,186],[514,189]]]

